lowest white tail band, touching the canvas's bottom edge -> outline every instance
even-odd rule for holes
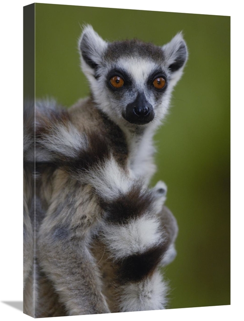
[[[167,284],[159,271],[138,283],[122,286],[121,312],[165,309]]]

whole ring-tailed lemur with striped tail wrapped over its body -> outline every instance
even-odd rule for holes
[[[91,96],[68,110],[25,108],[24,312],[163,309],[160,267],[175,257],[178,228],[165,184],[148,184],[186,44],[181,33],[163,47],[108,43],[86,26],[79,46]]]

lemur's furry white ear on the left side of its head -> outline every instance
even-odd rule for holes
[[[102,64],[102,56],[107,45],[108,43],[93,30],[91,25],[85,26],[79,40],[82,67],[84,68],[86,64],[95,70]]]

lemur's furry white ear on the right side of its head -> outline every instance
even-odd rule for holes
[[[172,75],[175,73],[175,76],[180,77],[188,58],[187,46],[182,33],[178,33],[169,43],[164,44],[162,49],[168,69]]]

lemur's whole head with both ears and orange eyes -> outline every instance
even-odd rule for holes
[[[135,39],[108,43],[88,25],[79,47],[81,68],[104,113],[134,127],[163,119],[187,60],[181,33],[162,47]]]

